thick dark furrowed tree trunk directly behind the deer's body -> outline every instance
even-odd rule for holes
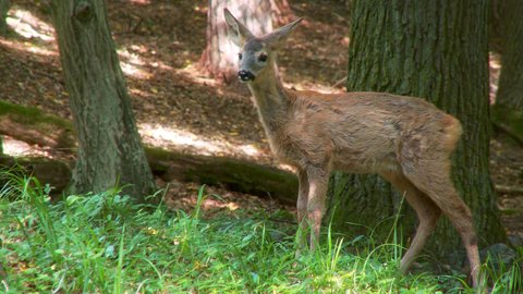
[[[348,90],[422,97],[459,118],[464,134],[453,155],[453,180],[473,211],[481,244],[499,242],[504,232],[488,170],[487,1],[356,0],[351,9]],[[330,196],[335,224],[380,223],[377,235],[390,232],[382,221],[392,224],[401,199],[375,175],[336,174]],[[406,238],[416,217],[410,208],[400,215]],[[427,248],[450,261],[460,244],[443,220]]]

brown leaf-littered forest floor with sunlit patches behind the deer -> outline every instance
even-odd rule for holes
[[[279,56],[285,86],[342,91],[348,63],[346,7],[331,1],[290,1],[305,17]],[[127,77],[137,125],[145,144],[187,154],[228,156],[282,169],[270,155],[262,125],[244,86],[217,84],[198,71],[205,48],[207,1],[108,1],[110,26],[121,66]],[[0,99],[33,106],[71,119],[59,52],[48,9],[42,1],[20,0],[9,12],[8,38],[0,38]],[[491,97],[499,62],[491,59]],[[506,134],[494,134],[490,168],[496,185],[523,187],[522,146]],[[5,138],[4,151],[20,156],[74,158],[70,150],[51,150]],[[165,185],[166,183],[159,183]],[[170,183],[168,203],[194,205],[196,183]],[[253,206],[278,209],[270,199],[208,187],[222,200],[204,208]],[[175,197],[174,197],[175,196]],[[499,195],[509,234],[523,244],[523,194]],[[292,210],[292,207],[284,207]]]

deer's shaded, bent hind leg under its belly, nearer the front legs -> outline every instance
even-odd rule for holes
[[[409,179],[401,173],[382,173],[382,177],[389,181],[400,193],[405,196],[406,201],[416,211],[419,223],[412,240],[411,246],[401,259],[400,270],[405,273],[409,271],[412,262],[422,252],[427,243],[428,236],[436,228],[436,223],[441,216],[439,207],[428,198],[423,192],[416,188]]]

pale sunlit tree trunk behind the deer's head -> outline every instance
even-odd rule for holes
[[[272,30],[271,0],[209,0],[207,11],[207,47],[199,65],[209,76],[230,84],[236,81],[240,49],[227,36],[223,9],[228,8],[256,36]]]

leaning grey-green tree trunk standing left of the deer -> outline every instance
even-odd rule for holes
[[[72,193],[125,185],[143,200],[155,188],[136,130],[102,0],[51,2],[78,137]]]

